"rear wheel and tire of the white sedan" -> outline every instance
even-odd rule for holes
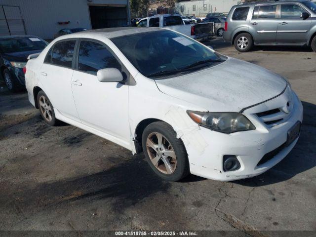
[[[50,103],[50,100],[48,99],[44,91],[41,90],[38,93],[37,100],[38,100],[38,106],[40,110],[40,116],[44,119],[44,121],[51,126],[58,125],[60,121],[56,119],[55,113],[54,113],[54,107]]]

